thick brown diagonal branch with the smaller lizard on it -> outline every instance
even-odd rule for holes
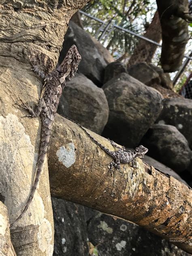
[[[114,150],[109,141],[89,132]],[[192,252],[192,191],[185,184],[139,158],[137,169],[122,164],[122,173],[111,176],[111,157],[60,115],[52,128],[48,157],[52,196],[132,221]]]

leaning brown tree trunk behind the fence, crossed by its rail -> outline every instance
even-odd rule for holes
[[[161,40],[161,26],[158,11],[156,11],[153,20],[151,21],[149,27],[147,28],[145,34],[143,35],[157,43]],[[157,49],[157,45],[149,43],[143,39],[139,39],[134,53],[131,55],[131,58],[128,61],[127,66],[134,65],[138,62],[147,62],[151,63],[151,60],[154,56],[154,53]]]

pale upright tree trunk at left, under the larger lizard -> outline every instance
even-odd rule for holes
[[[36,171],[41,119],[21,118],[14,103],[37,102],[42,81],[31,70],[30,50],[51,71],[62,49],[70,17],[88,0],[3,1],[0,4],[0,200],[13,222],[25,205]],[[53,254],[53,215],[47,161],[34,199],[11,229],[17,255]],[[1,253],[1,252],[0,252]]]

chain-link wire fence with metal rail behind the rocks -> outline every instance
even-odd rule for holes
[[[85,31],[90,32],[102,45],[104,45],[112,54],[115,60],[119,60],[131,66],[135,63],[145,61],[148,64],[160,65],[161,44],[160,41],[161,28],[156,26],[157,37],[155,41],[147,37],[141,36],[143,33],[141,27],[121,27],[113,23],[111,19],[108,23],[97,19],[83,11],[80,11],[83,27]],[[175,91],[179,91],[183,84],[186,83],[190,75],[190,65],[192,56],[185,55],[183,64],[178,72],[171,75],[175,84]],[[181,90],[180,90],[181,92]]]

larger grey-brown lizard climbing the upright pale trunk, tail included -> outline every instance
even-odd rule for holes
[[[30,56],[29,56],[30,57]],[[30,192],[30,196],[28,201],[19,215],[19,217],[15,220],[17,222],[21,219],[23,214],[27,211],[36,191],[38,181],[41,175],[41,171],[43,169],[43,162],[45,160],[45,155],[47,153],[47,147],[49,144],[51,126],[53,124],[53,120],[55,118],[55,113],[58,108],[58,104],[60,101],[60,97],[62,91],[66,85],[66,81],[70,80],[77,72],[77,68],[79,62],[81,60],[81,55],[77,51],[77,47],[73,45],[68,50],[66,57],[64,58],[63,62],[53,70],[48,76],[46,76],[42,70],[40,70],[37,66],[33,65],[33,58],[30,57],[30,61],[32,63],[34,71],[47,83],[44,87],[44,92],[42,98],[38,101],[38,105],[36,106],[35,110],[33,110],[28,104],[19,105],[24,109],[28,110],[30,113],[30,117],[38,117],[41,115],[42,120],[42,131],[41,131],[41,145],[39,150],[38,162],[36,167],[36,176],[34,179],[34,183],[32,186],[32,190]],[[13,226],[15,223],[13,222],[10,227]]]

